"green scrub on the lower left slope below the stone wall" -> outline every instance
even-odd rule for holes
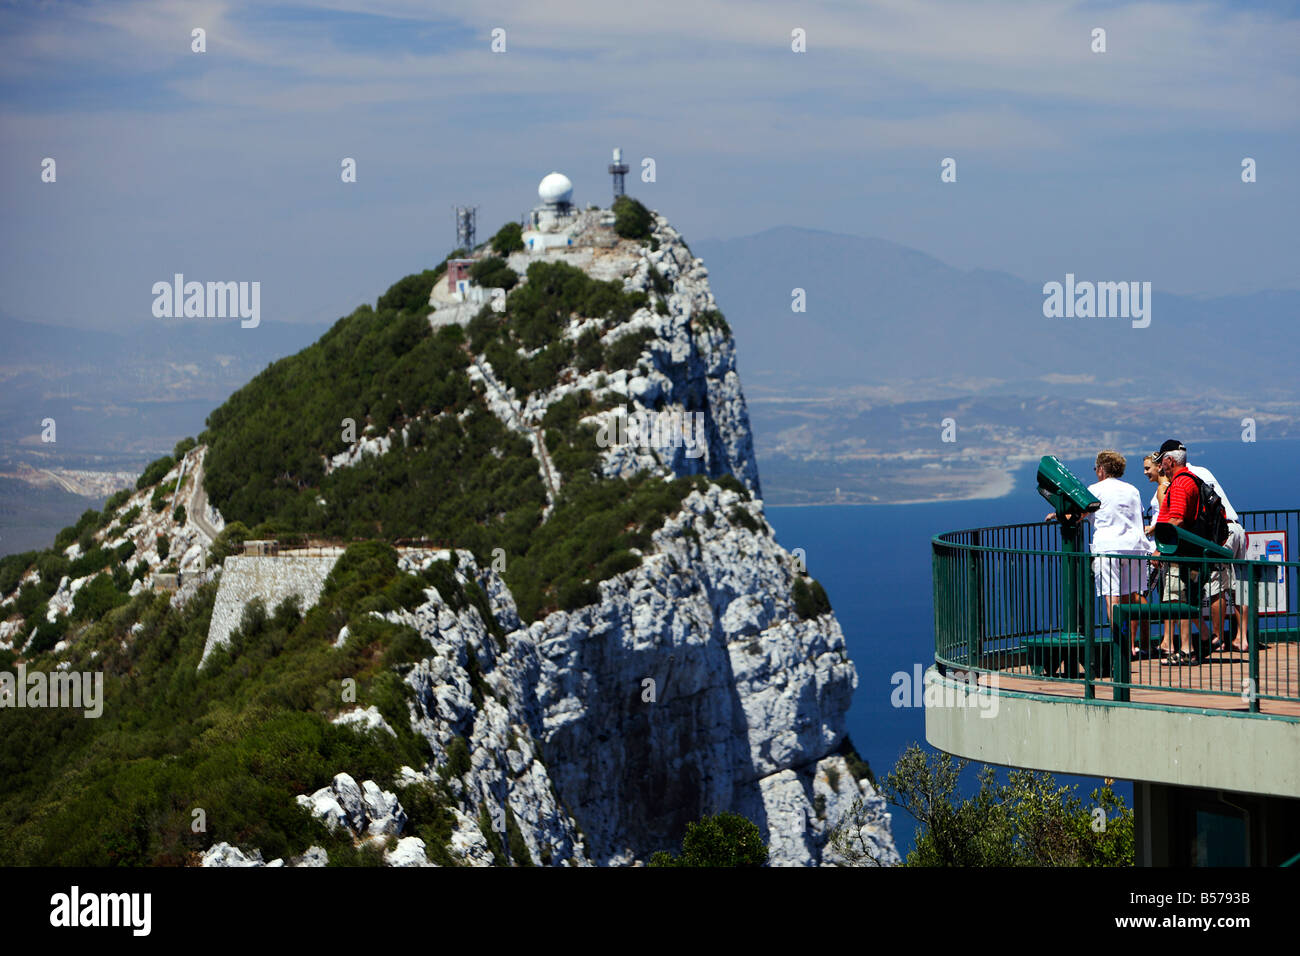
[[[339,771],[391,787],[403,763],[433,758],[411,731],[408,689],[394,671],[433,652],[410,628],[368,613],[413,606],[446,574],[403,575],[391,548],[355,545],[316,607],[302,615],[294,602],[273,611],[251,604],[231,648],[214,652],[202,674],[214,585],[183,611],[146,593],[105,613],[73,665],[104,671],[100,718],[65,708],[0,710],[0,865],[183,864],[221,840],[273,856],[316,843],[334,862],[364,862],[294,797]],[[455,591],[445,597],[468,600]],[[136,622],[142,630],[131,635]],[[351,637],[335,650],[343,624]],[[356,680],[355,704],[343,696],[346,678]],[[372,704],[396,739],[330,723]],[[412,831],[439,832],[446,804],[445,792],[404,804]],[[196,809],[205,832],[191,830]],[[443,856],[441,845],[430,851]]]

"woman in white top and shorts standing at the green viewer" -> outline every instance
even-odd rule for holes
[[[1141,494],[1127,481],[1121,481],[1124,473],[1124,457],[1106,449],[1097,453],[1093,468],[1097,483],[1088,485],[1100,501],[1092,514],[1084,515],[1093,522],[1093,554],[1132,554],[1130,558],[1097,558],[1092,571],[1097,583],[1097,596],[1105,598],[1106,619],[1110,620],[1114,606],[1126,604],[1145,604],[1147,598],[1147,559],[1156,551],[1148,540],[1141,520]],[[1048,515],[1056,518],[1054,514]],[[1132,654],[1138,657],[1140,648],[1136,640]]]

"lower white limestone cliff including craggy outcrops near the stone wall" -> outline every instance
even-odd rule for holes
[[[455,737],[468,743],[472,769],[451,784],[464,845],[477,844],[481,808],[491,818],[508,805],[534,860],[630,864],[731,809],[758,823],[774,864],[807,865],[861,796],[889,858],[884,801],[831,754],[857,684],[844,635],[831,614],[798,618],[789,555],[766,522],[729,520],[733,509],[762,522],[734,492],[692,493],[655,553],[602,583],[598,604],[526,628],[468,553],[403,553],[412,571],[455,562],[508,632],[502,649],[477,610],[455,611],[433,588],[415,611],[385,615],[432,649],[406,682],[412,728],[439,756],[407,775],[433,779]]]

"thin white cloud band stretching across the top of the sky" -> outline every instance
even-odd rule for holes
[[[1222,127],[1294,129],[1291,107],[1300,94],[1300,23],[1212,4],[1139,3],[1091,10],[1065,0],[802,5],[663,0],[611,9],[595,0],[489,0],[462,8],[463,13],[404,0],[316,7],[430,25],[460,16],[476,39],[432,56],[339,48],[318,25],[290,34],[285,25],[250,21],[242,14],[254,7],[244,3],[174,7],[131,0],[96,5],[88,14],[125,38],[122,43],[72,30],[65,53],[118,69],[131,57],[157,64],[160,57],[185,55],[190,26],[205,21],[212,52],[204,74],[211,78],[200,82],[178,73],[169,88],[196,104],[272,112],[432,103],[460,91],[482,96],[546,91],[576,101],[597,99],[598,116],[620,103],[658,105],[660,114],[724,103],[729,113],[733,105],[801,94],[829,99],[836,112],[853,113],[855,105],[897,109],[900,104],[881,101],[879,91],[901,90],[919,103],[949,100],[941,112],[914,113],[936,125],[954,112],[979,116],[1010,108],[1032,117],[1060,104],[1132,112],[1161,122],[1174,113],[1175,122],[1180,117],[1190,127],[1210,121]],[[507,30],[506,55],[488,49],[494,26]],[[1104,55],[1089,51],[1095,26],[1108,31]],[[807,31],[807,53],[789,51],[794,27]],[[34,66],[34,56],[48,65],[57,59],[57,40],[52,33],[40,33],[39,40],[34,44],[39,53],[22,36],[0,43],[0,51],[16,55],[23,69]],[[715,117],[724,130],[727,113]],[[837,144],[831,142],[832,148]]]

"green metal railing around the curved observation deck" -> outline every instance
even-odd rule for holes
[[[1248,532],[1283,532],[1282,553],[1269,561],[1161,557],[1182,576],[1184,600],[1121,605],[1114,615],[1118,623],[1095,596],[1095,564],[1136,561],[1145,585],[1145,557],[1063,554],[1060,527],[1043,522],[936,535],[935,661],[940,669],[1070,685],[1061,688],[1062,696],[1078,697],[1082,685],[1088,701],[1124,704],[1135,689],[1176,691],[1195,696],[1165,697],[1161,706],[1278,717],[1283,708],[1277,704],[1300,702],[1300,510],[1248,511],[1240,522]],[[1091,525],[1084,527],[1091,545]],[[1231,568],[1231,581],[1226,568]],[[1210,652],[1197,632],[1212,631],[1216,591],[1223,594],[1223,648]],[[1236,606],[1243,607],[1242,635],[1235,632]],[[1158,657],[1145,666],[1130,661],[1135,641],[1157,652],[1166,620],[1175,641],[1182,622],[1191,622],[1192,646],[1205,652],[1200,666],[1166,666]],[[1230,641],[1243,637],[1245,650],[1232,650]],[[1098,698],[1098,688],[1109,693]]]

